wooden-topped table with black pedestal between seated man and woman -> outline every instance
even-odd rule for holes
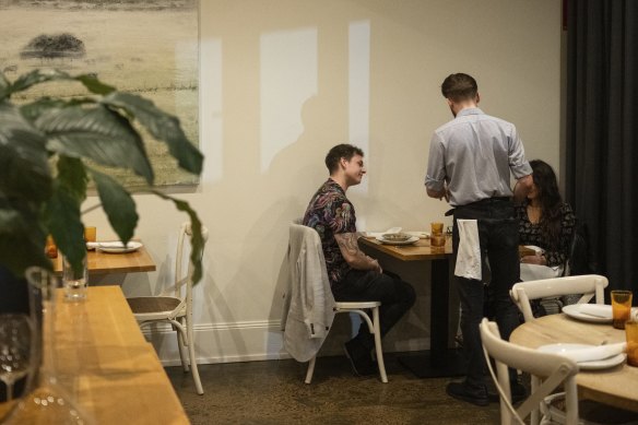
[[[430,247],[429,239],[418,239],[413,245],[385,245],[375,238],[362,237],[359,243],[371,257],[375,257],[376,251],[401,261],[432,262],[430,350],[420,355],[402,356],[400,361],[420,378],[463,375],[464,361],[460,351],[448,347],[452,238],[446,237],[446,246],[442,248]]]

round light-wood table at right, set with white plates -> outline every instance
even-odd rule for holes
[[[518,327],[515,344],[537,349],[552,343],[600,344],[625,341],[625,331],[612,324],[578,321],[564,314],[541,317]],[[622,365],[600,370],[580,370],[576,376],[579,397],[638,412],[638,367]]]

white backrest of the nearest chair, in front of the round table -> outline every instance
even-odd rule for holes
[[[542,353],[504,341],[498,326],[486,318],[481,322],[480,330],[485,358],[500,394],[501,424],[509,425],[515,421],[522,424],[532,411],[539,409],[540,402],[560,385],[565,389],[567,424],[578,422],[578,394],[575,379],[578,365],[576,362],[558,354]],[[495,361],[497,376],[492,369],[491,357]],[[543,383],[537,388],[532,388],[533,392],[516,410],[511,405],[508,367],[543,379]]]

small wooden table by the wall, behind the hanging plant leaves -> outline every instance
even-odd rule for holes
[[[99,250],[86,251],[88,274],[134,273],[155,271],[155,262],[145,247],[133,252],[109,253]],[[62,274],[62,256],[54,260],[56,274]]]

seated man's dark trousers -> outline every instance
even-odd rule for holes
[[[338,302],[381,302],[379,323],[383,337],[412,307],[416,299],[414,288],[393,273],[371,270],[351,270],[332,287]],[[375,346],[368,326],[361,324],[356,339],[368,350]]]

